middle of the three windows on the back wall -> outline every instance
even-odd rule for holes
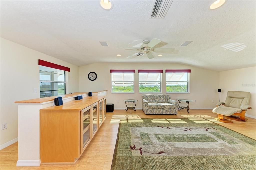
[[[153,70],[139,71],[139,92],[140,93],[161,93],[162,73]],[[162,70],[163,72],[163,70]]]

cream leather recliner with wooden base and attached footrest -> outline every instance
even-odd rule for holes
[[[252,107],[249,105],[251,93],[246,91],[228,91],[225,103],[218,102],[217,107],[215,107],[212,112],[218,114],[220,122],[233,123],[233,121],[228,120],[240,120],[246,121],[245,113],[247,109]],[[234,116],[231,116],[234,115]],[[224,116],[229,116],[228,119]],[[239,116],[239,117],[237,117]]]

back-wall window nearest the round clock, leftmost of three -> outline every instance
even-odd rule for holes
[[[111,70],[112,93],[134,93],[134,72]]]

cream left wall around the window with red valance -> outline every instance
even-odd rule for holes
[[[0,122],[7,122],[7,129],[1,130],[1,145],[18,137],[18,105],[14,102],[39,98],[38,59],[69,67],[68,90],[78,91],[77,66],[1,38]]]

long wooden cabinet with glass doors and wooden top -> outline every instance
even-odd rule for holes
[[[40,110],[41,165],[74,164],[106,118],[106,96]]]

